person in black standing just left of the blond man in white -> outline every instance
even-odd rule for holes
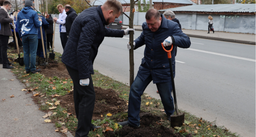
[[[52,39],[53,39],[53,19],[51,14],[47,14],[47,12],[45,12],[45,19],[46,21],[49,23],[49,27],[46,30],[46,38],[47,38],[47,51],[50,52],[50,45],[52,48]]]

